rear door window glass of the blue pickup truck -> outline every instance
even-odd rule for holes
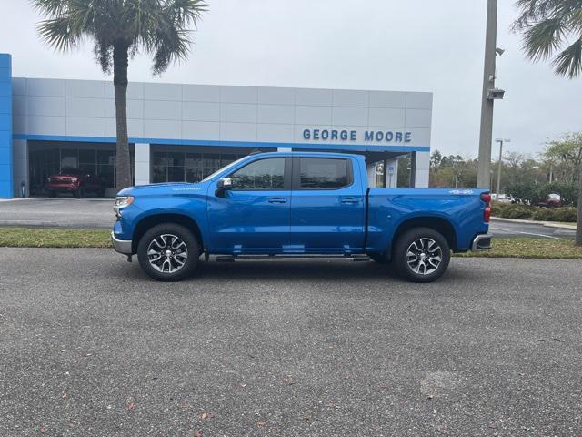
[[[346,159],[300,158],[300,189],[336,189],[350,184]]]

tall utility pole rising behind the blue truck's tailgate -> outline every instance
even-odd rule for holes
[[[491,166],[491,141],[493,139],[493,100],[487,98],[487,90],[495,88],[496,43],[497,0],[487,0],[487,35],[485,37],[481,133],[479,136],[479,162],[477,169],[478,188],[490,188],[489,168]]]

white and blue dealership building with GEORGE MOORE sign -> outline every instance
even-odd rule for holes
[[[427,187],[432,93],[130,83],[132,178],[196,182],[260,149],[357,153],[372,186]],[[0,198],[43,195],[45,180],[82,168],[115,195],[111,81],[12,76],[0,54]]]

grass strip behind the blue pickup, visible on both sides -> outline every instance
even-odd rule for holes
[[[0,247],[111,248],[110,231],[81,229],[0,228]],[[582,259],[582,247],[570,239],[493,239],[493,249],[457,257]]]

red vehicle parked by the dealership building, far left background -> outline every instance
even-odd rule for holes
[[[105,181],[81,168],[63,168],[57,175],[46,178],[46,192],[49,198],[59,193],[71,193],[75,198],[84,198],[90,193],[100,198],[105,196]]]

